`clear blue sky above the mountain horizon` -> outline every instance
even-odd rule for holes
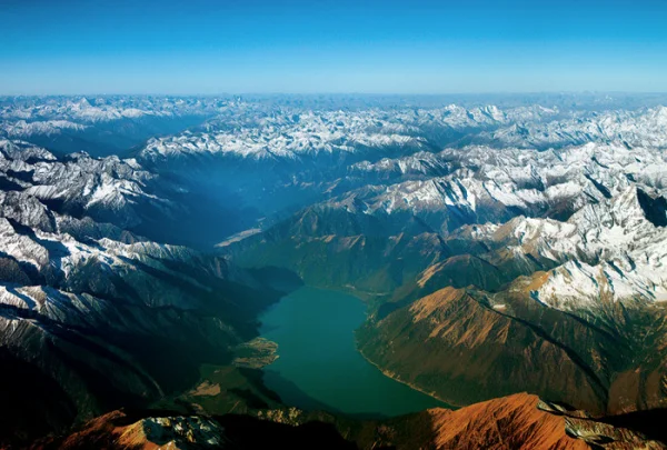
[[[667,91],[667,0],[0,0],[0,94]]]

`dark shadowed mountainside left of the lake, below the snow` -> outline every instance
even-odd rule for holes
[[[63,432],[104,411],[145,408],[189,390],[202,364],[231,364],[235,348],[257,336],[259,311],[283,294],[249,274],[235,281],[239,274],[221,260],[128,264],[122,276],[94,264],[70,273],[70,281],[84,281],[67,287],[84,292],[76,297],[17,288],[29,301],[57,302],[54,314],[0,308],[3,320],[19,323],[13,336],[22,337],[0,354],[0,393],[17,412],[2,421],[3,442]],[[158,299],[161,304],[152,303]]]

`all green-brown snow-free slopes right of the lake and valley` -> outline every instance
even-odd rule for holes
[[[636,196],[660,211],[663,198]],[[589,310],[567,311],[538,301],[558,261],[529,244],[508,251],[518,223],[487,238],[475,226],[442,236],[417,217],[325,202],[226,250],[241,266],[280,266],[364,298],[361,352],[452,404],[528,390],[598,414],[664,406],[661,303],[601,294]]]

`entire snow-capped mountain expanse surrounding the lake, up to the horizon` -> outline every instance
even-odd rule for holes
[[[447,401],[665,407],[667,109],[539,100],[0,99],[26,432],[223,377],[277,279],[366,300],[364,354]],[[259,404],[229,373],[211,398]]]

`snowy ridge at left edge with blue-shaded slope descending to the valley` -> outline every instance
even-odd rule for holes
[[[253,223],[233,199],[191,191],[136,159],[57,158],[24,141],[0,140],[0,189],[28,193],[54,212],[112,223],[160,242],[209,248]]]

